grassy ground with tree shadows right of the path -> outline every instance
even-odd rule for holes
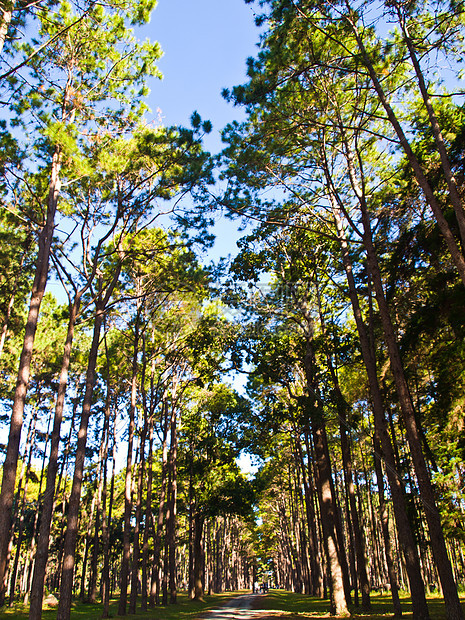
[[[465,598],[462,597],[462,607],[465,613]],[[392,602],[389,594],[371,596],[372,610],[370,613],[351,608],[353,618],[360,620],[381,620],[392,617]],[[412,618],[412,608],[408,596],[401,597],[402,617]],[[443,620],[446,617],[444,601],[439,597],[428,597],[428,607],[432,620]],[[285,618],[286,620],[305,620],[307,618],[329,618],[329,602],[310,598],[302,594],[273,590],[266,596],[261,596],[255,604],[256,609],[269,610],[271,613],[263,620]]]

